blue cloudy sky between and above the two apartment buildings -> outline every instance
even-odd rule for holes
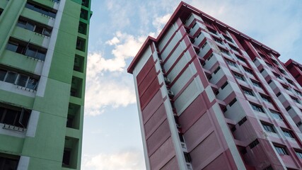
[[[185,1],[302,63],[301,0]],[[148,35],[156,38],[180,1],[92,0],[81,169],[144,170],[132,74]]]

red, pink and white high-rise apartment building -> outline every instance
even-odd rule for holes
[[[302,169],[302,67],[278,57],[181,2],[128,68],[146,169]]]

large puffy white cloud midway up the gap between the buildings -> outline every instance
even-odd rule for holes
[[[122,72],[124,65],[122,58],[106,60],[98,52],[88,55],[86,115],[100,115],[104,113],[104,108],[107,106],[116,108],[136,102],[134,84],[132,79],[129,79],[131,75]],[[117,72],[117,74],[108,74],[105,71]]]

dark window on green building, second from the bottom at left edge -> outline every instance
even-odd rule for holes
[[[30,110],[25,108],[14,108],[12,106],[0,106],[0,123],[27,128],[30,118]]]

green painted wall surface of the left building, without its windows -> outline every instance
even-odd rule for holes
[[[49,8],[56,6],[53,1],[49,0],[33,0],[33,2]],[[45,64],[48,62],[47,59],[45,62],[37,61],[6,50],[10,38],[16,38],[23,42],[30,40],[31,44],[37,46],[42,46],[43,41],[45,42],[43,36],[16,26],[19,16],[30,18],[45,25],[54,22],[52,21],[53,18],[42,16],[36,11],[25,8],[25,4],[25,0],[0,1],[0,8],[4,8],[0,16],[0,68],[11,68],[24,74],[37,74],[36,77],[40,77],[42,73],[37,71],[39,70],[37,67],[41,64],[47,65]],[[11,86],[11,91],[1,89],[0,86],[0,103],[11,103],[39,113],[34,136],[14,137],[0,133],[0,153],[30,157],[28,169],[81,168],[83,105],[90,18],[88,17],[87,21],[80,18],[81,8],[87,10],[88,16],[91,16],[90,8],[81,6],[81,0],[66,0],[65,2],[59,28],[53,28],[58,29],[57,40],[53,48],[49,69],[42,68],[43,72],[47,74],[43,75],[45,85],[40,82],[38,86],[37,91],[43,89],[39,96],[30,97],[20,94],[13,90],[16,88],[14,84],[7,85]],[[87,24],[86,35],[78,33],[79,21]],[[76,50],[78,38],[86,40],[83,51]],[[49,52],[50,49],[48,49],[47,54]],[[84,59],[83,72],[74,71],[75,55],[80,55]],[[73,77],[80,81],[74,84]],[[40,81],[42,80],[40,79]],[[81,97],[70,96],[71,87],[80,91]],[[77,109],[73,111],[69,106],[74,106]],[[66,127],[67,116],[74,118],[72,128]],[[70,165],[67,166],[62,166],[64,148],[71,150]]]

